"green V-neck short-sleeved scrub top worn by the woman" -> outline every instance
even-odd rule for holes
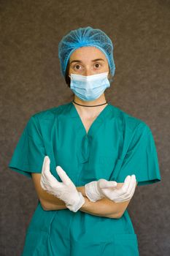
[[[139,118],[107,104],[88,133],[72,102],[42,110],[29,118],[9,168],[31,178],[41,173],[45,155],[50,171],[61,165],[76,187],[105,178],[124,182],[135,174],[138,186],[161,181],[150,127]],[[120,219],[68,208],[45,211],[40,202],[26,230],[23,256],[139,255],[127,209]]]

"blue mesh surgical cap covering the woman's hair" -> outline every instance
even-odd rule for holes
[[[66,34],[58,44],[58,57],[61,64],[61,73],[66,75],[66,67],[71,54],[77,48],[94,46],[101,50],[108,61],[111,76],[115,74],[115,62],[113,59],[113,45],[111,39],[101,31],[88,26],[75,29]]]

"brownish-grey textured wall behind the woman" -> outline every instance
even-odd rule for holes
[[[128,212],[140,255],[170,255],[170,2],[1,0],[0,15],[0,255],[20,255],[37,203],[34,184],[12,172],[9,159],[32,114],[72,100],[61,77],[58,42],[80,26],[104,30],[114,44],[115,79],[107,100],[152,129],[162,179],[137,187]]]

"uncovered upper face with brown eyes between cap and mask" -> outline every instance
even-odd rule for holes
[[[70,56],[69,75],[96,75],[103,72],[109,72],[109,64],[104,53],[96,47],[78,48]]]

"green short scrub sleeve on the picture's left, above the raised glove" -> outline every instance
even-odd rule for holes
[[[8,167],[31,178],[31,173],[42,173],[45,147],[36,116],[31,116],[18,140]]]

